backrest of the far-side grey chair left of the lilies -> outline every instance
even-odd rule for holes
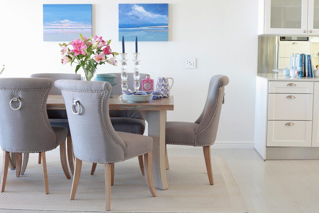
[[[81,80],[80,74],[70,73],[35,73],[30,75],[30,78],[50,78],[54,81],[67,79],[67,80]],[[61,95],[60,90],[55,86],[52,87],[49,95]]]

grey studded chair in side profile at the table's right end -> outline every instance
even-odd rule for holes
[[[229,79],[225,75],[215,75],[211,78],[204,110],[194,123],[166,122],[166,144],[203,147],[211,185],[214,185],[214,179],[211,171],[210,147],[216,140],[221,106],[224,103],[225,86],[228,82]],[[168,165],[168,161],[166,163]]]

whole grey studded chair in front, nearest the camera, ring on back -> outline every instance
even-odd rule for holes
[[[108,102],[112,86],[104,81],[57,80],[72,134],[75,171],[71,189],[73,200],[81,173],[82,161],[105,165],[106,210],[110,210],[114,163],[144,155],[145,179],[156,196],[152,179],[152,137],[115,132],[109,117]]]

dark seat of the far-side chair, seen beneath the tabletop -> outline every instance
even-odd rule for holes
[[[115,131],[144,134],[145,121],[137,118],[110,118]]]

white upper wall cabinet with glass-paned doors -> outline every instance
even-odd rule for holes
[[[319,35],[319,0],[259,0],[258,34]]]

